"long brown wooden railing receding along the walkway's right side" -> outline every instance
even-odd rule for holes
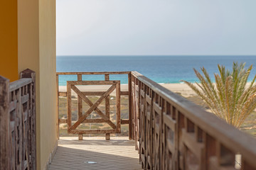
[[[144,169],[256,169],[255,138],[138,72],[132,130]]]

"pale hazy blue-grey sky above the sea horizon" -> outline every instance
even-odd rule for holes
[[[256,55],[255,0],[57,0],[57,55]]]

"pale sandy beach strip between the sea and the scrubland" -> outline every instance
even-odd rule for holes
[[[186,84],[160,84],[170,91],[182,94],[182,96],[194,96],[196,95]],[[106,91],[110,86],[107,85],[88,85],[78,86],[80,91]],[[67,86],[59,86],[59,91],[67,91]],[[121,91],[128,91],[127,84],[121,84]],[[71,91],[71,95],[77,96],[74,91]],[[112,92],[111,96],[115,95],[115,91]]]

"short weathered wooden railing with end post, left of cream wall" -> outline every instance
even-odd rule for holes
[[[0,76],[0,169],[36,169],[35,72]]]

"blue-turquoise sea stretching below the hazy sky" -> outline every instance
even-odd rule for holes
[[[205,67],[210,78],[218,73],[218,64],[232,69],[233,62],[251,64],[254,69],[248,81],[256,74],[256,56],[57,56],[57,72],[122,72],[137,71],[159,84],[176,84],[181,80],[198,81],[193,68],[200,71]],[[121,80],[127,84],[127,75],[110,75],[111,80]],[[77,80],[77,76],[61,75],[59,85],[65,86],[66,81]],[[82,80],[104,80],[103,75],[83,75]]]

